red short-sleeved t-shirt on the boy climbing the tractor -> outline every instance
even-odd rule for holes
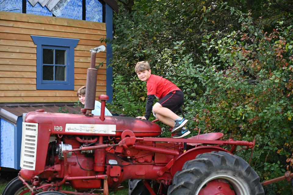
[[[155,95],[161,99],[175,90],[180,89],[174,83],[163,77],[151,74],[149,80],[147,80],[147,95]]]

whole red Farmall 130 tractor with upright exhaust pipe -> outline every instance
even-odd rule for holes
[[[36,110],[25,116],[21,170],[3,195],[108,195],[125,180],[130,195],[264,194],[256,172],[232,154],[237,146],[253,149],[254,142],[219,140],[222,133],[159,138],[154,122],[105,116],[105,95],[99,96],[101,115],[93,116],[99,49],[91,50],[83,114]]]

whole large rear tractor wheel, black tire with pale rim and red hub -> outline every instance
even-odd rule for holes
[[[194,160],[187,161],[182,171],[174,175],[168,195],[219,194],[218,186],[215,185],[217,189],[207,187],[213,186],[215,181],[228,182],[228,187],[220,190],[232,191],[237,195],[265,194],[259,176],[246,161],[236,155],[219,151],[199,154]]]

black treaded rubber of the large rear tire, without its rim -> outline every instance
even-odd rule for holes
[[[251,193],[264,195],[259,176],[251,166],[241,157],[224,151],[202,153],[195,159],[185,162],[182,171],[175,173],[173,184],[168,188],[168,195],[194,195],[197,187],[204,181],[205,175],[231,169],[234,177],[241,177],[246,182],[245,185]]]

